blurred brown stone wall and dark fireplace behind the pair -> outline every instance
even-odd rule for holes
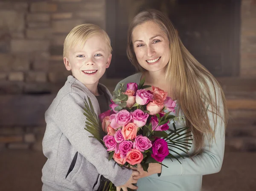
[[[44,112],[70,72],[64,38],[82,23],[111,37],[101,82],[113,91],[136,72],[128,26],[141,10],[164,12],[184,45],[221,83],[230,120],[224,163],[203,191],[256,190],[256,0],[0,0],[0,190],[41,190]]]

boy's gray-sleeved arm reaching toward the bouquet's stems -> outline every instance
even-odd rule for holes
[[[116,186],[124,185],[131,177],[130,169],[121,168],[113,160],[108,161],[105,147],[84,130],[84,99],[77,93],[65,95],[58,104],[53,119],[71,145],[92,163],[99,174],[109,179]]]

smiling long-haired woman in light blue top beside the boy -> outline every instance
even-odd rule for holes
[[[157,10],[134,17],[127,54],[139,73],[120,83],[125,87],[130,82],[139,84],[145,77],[145,85],[168,92],[176,102],[175,115],[185,117],[176,127],[189,127],[193,137],[189,153],[179,159],[181,165],[166,158],[163,164],[169,168],[154,163],[147,173],[139,166],[138,191],[200,191],[202,175],[219,172],[224,156],[227,107],[220,85],[184,47],[170,20]]]

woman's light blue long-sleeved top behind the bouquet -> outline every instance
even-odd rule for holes
[[[140,83],[140,78],[142,74],[137,73],[131,75],[120,83],[125,83],[124,87],[127,87],[126,84],[135,82]],[[120,87],[119,84],[116,85],[116,90]],[[223,103],[221,100],[220,93],[216,90],[217,93],[217,104],[223,108]],[[178,103],[176,101],[176,107]],[[221,110],[222,111],[222,110]],[[183,116],[182,111],[177,115],[170,113],[175,116]],[[221,112],[221,116],[224,113]],[[212,113],[208,112],[209,121],[214,127]],[[185,124],[181,121],[177,121],[175,126],[177,128],[185,127]],[[169,127],[173,129],[173,125],[170,124]],[[166,168],[162,166],[162,173],[160,177],[157,174],[153,174],[149,177],[145,177],[138,180],[137,186],[139,187],[137,191],[200,191],[202,185],[202,176],[206,174],[217,173],[221,170],[223,157],[224,157],[224,144],[225,144],[225,126],[224,122],[218,117],[217,125],[215,127],[215,140],[209,144],[207,138],[205,139],[205,145],[201,154],[192,156],[191,158],[183,154],[180,150],[175,150],[181,155],[184,156],[184,159],[180,158],[180,164],[176,159],[166,158],[163,160],[163,164],[168,166]],[[173,149],[173,148],[172,148]],[[194,147],[189,150],[189,154],[192,154]],[[177,154],[172,153],[177,156]]]

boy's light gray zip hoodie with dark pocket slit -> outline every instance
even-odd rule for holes
[[[111,98],[104,85],[98,87]],[[105,147],[84,130],[87,96],[99,115],[96,97],[70,75],[45,113],[43,152],[47,162],[42,169],[43,191],[96,191],[101,175],[116,186],[125,184],[131,176],[131,170],[108,161]]]

